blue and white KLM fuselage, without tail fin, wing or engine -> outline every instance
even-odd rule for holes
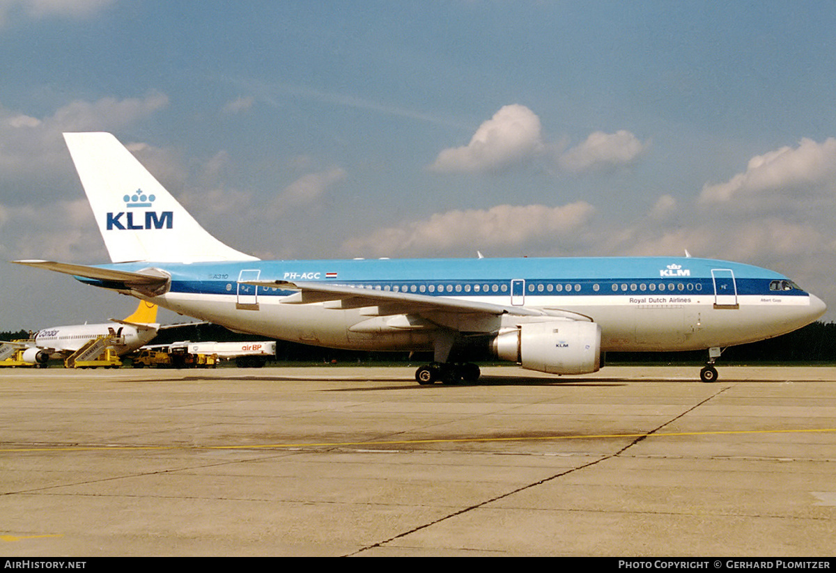
[[[150,298],[162,307],[281,340],[365,350],[432,350],[438,328],[487,334],[512,327],[523,317],[572,315],[600,325],[602,351],[695,350],[774,337],[824,311],[817,297],[777,272],[692,257],[186,265],[146,261],[106,266],[125,271],[149,267],[171,275],[168,291]],[[83,280],[109,286],[107,281]],[[275,286],[268,286],[271,282]],[[354,308],[333,304],[344,297],[293,302],[298,285],[317,283],[390,298]],[[410,305],[421,298],[428,303],[482,303],[505,312],[430,306],[413,311],[426,319],[421,327],[407,327],[401,315],[409,315]],[[380,310],[385,304],[390,311]]]

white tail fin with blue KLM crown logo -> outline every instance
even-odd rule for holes
[[[113,134],[64,134],[113,262],[252,261],[210,235]]]

